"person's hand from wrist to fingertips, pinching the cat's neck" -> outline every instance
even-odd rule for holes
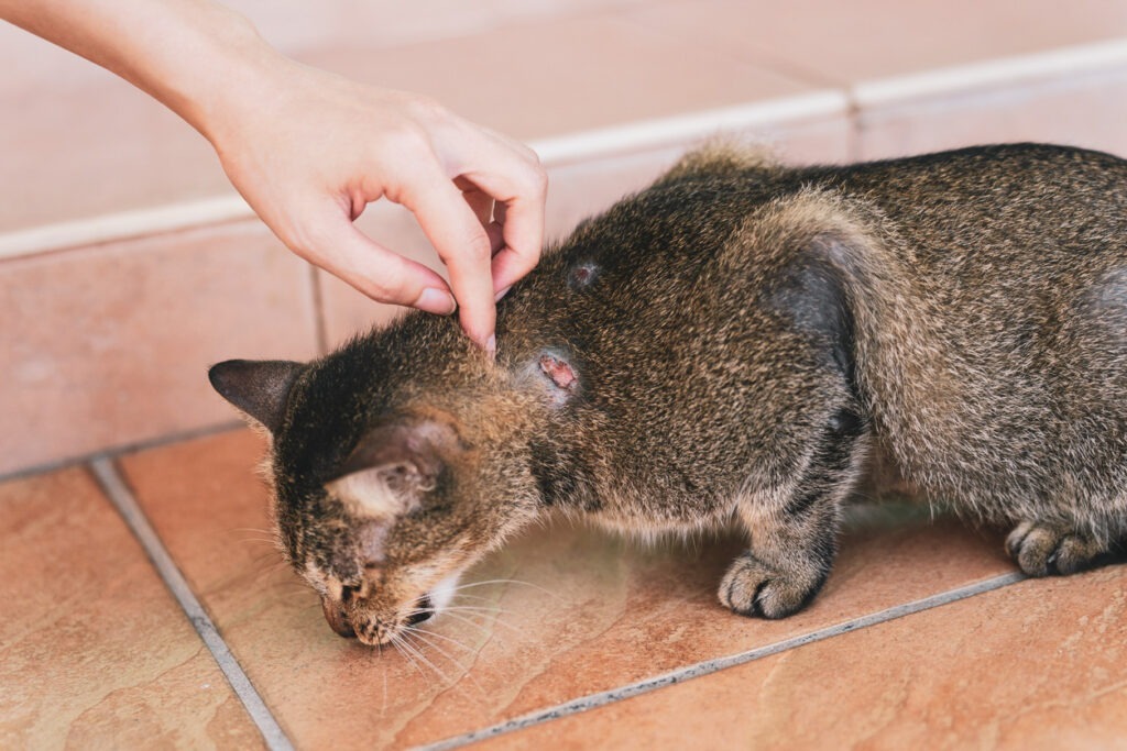
[[[274,233],[373,299],[449,314],[456,298],[463,330],[492,352],[495,298],[540,258],[547,177],[536,154],[425,97],[281,56],[243,83],[201,129]],[[355,227],[380,198],[415,214],[449,286]]]

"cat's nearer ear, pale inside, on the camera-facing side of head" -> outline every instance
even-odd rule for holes
[[[360,440],[326,490],[360,516],[407,513],[438,485],[449,457],[460,450],[458,433],[442,422],[379,426]]]

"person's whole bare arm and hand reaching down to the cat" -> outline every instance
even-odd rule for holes
[[[425,97],[300,65],[212,0],[0,0],[0,18],[184,117],[299,256],[378,301],[449,314],[456,298],[492,350],[495,296],[540,258],[547,178],[530,149]],[[380,198],[415,214],[449,286],[353,225]]]

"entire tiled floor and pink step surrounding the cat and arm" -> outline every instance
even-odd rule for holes
[[[717,129],[795,162],[1127,154],[1124,2],[231,5],[294,56],[533,140],[552,236]],[[476,567],[414,658],[335,636],[269,539],[263,445],[219,429],[204,372],[396,310],[282,251],[143,95],[2,25],[0,64],[0,749],[1127,748],[1127,567],[1026,581],[1001,531],[911,507],[854,512],[781,622],[716,602],[737,539],[559,522]],[[435,262],[403,212],[361,224]]]

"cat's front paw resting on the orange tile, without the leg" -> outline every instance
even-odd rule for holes
[[[806,607],[824,581],[825,572],[813,564],[784,573],[744,553],[720,581],[720,604],[742,616],[786,618]]]

